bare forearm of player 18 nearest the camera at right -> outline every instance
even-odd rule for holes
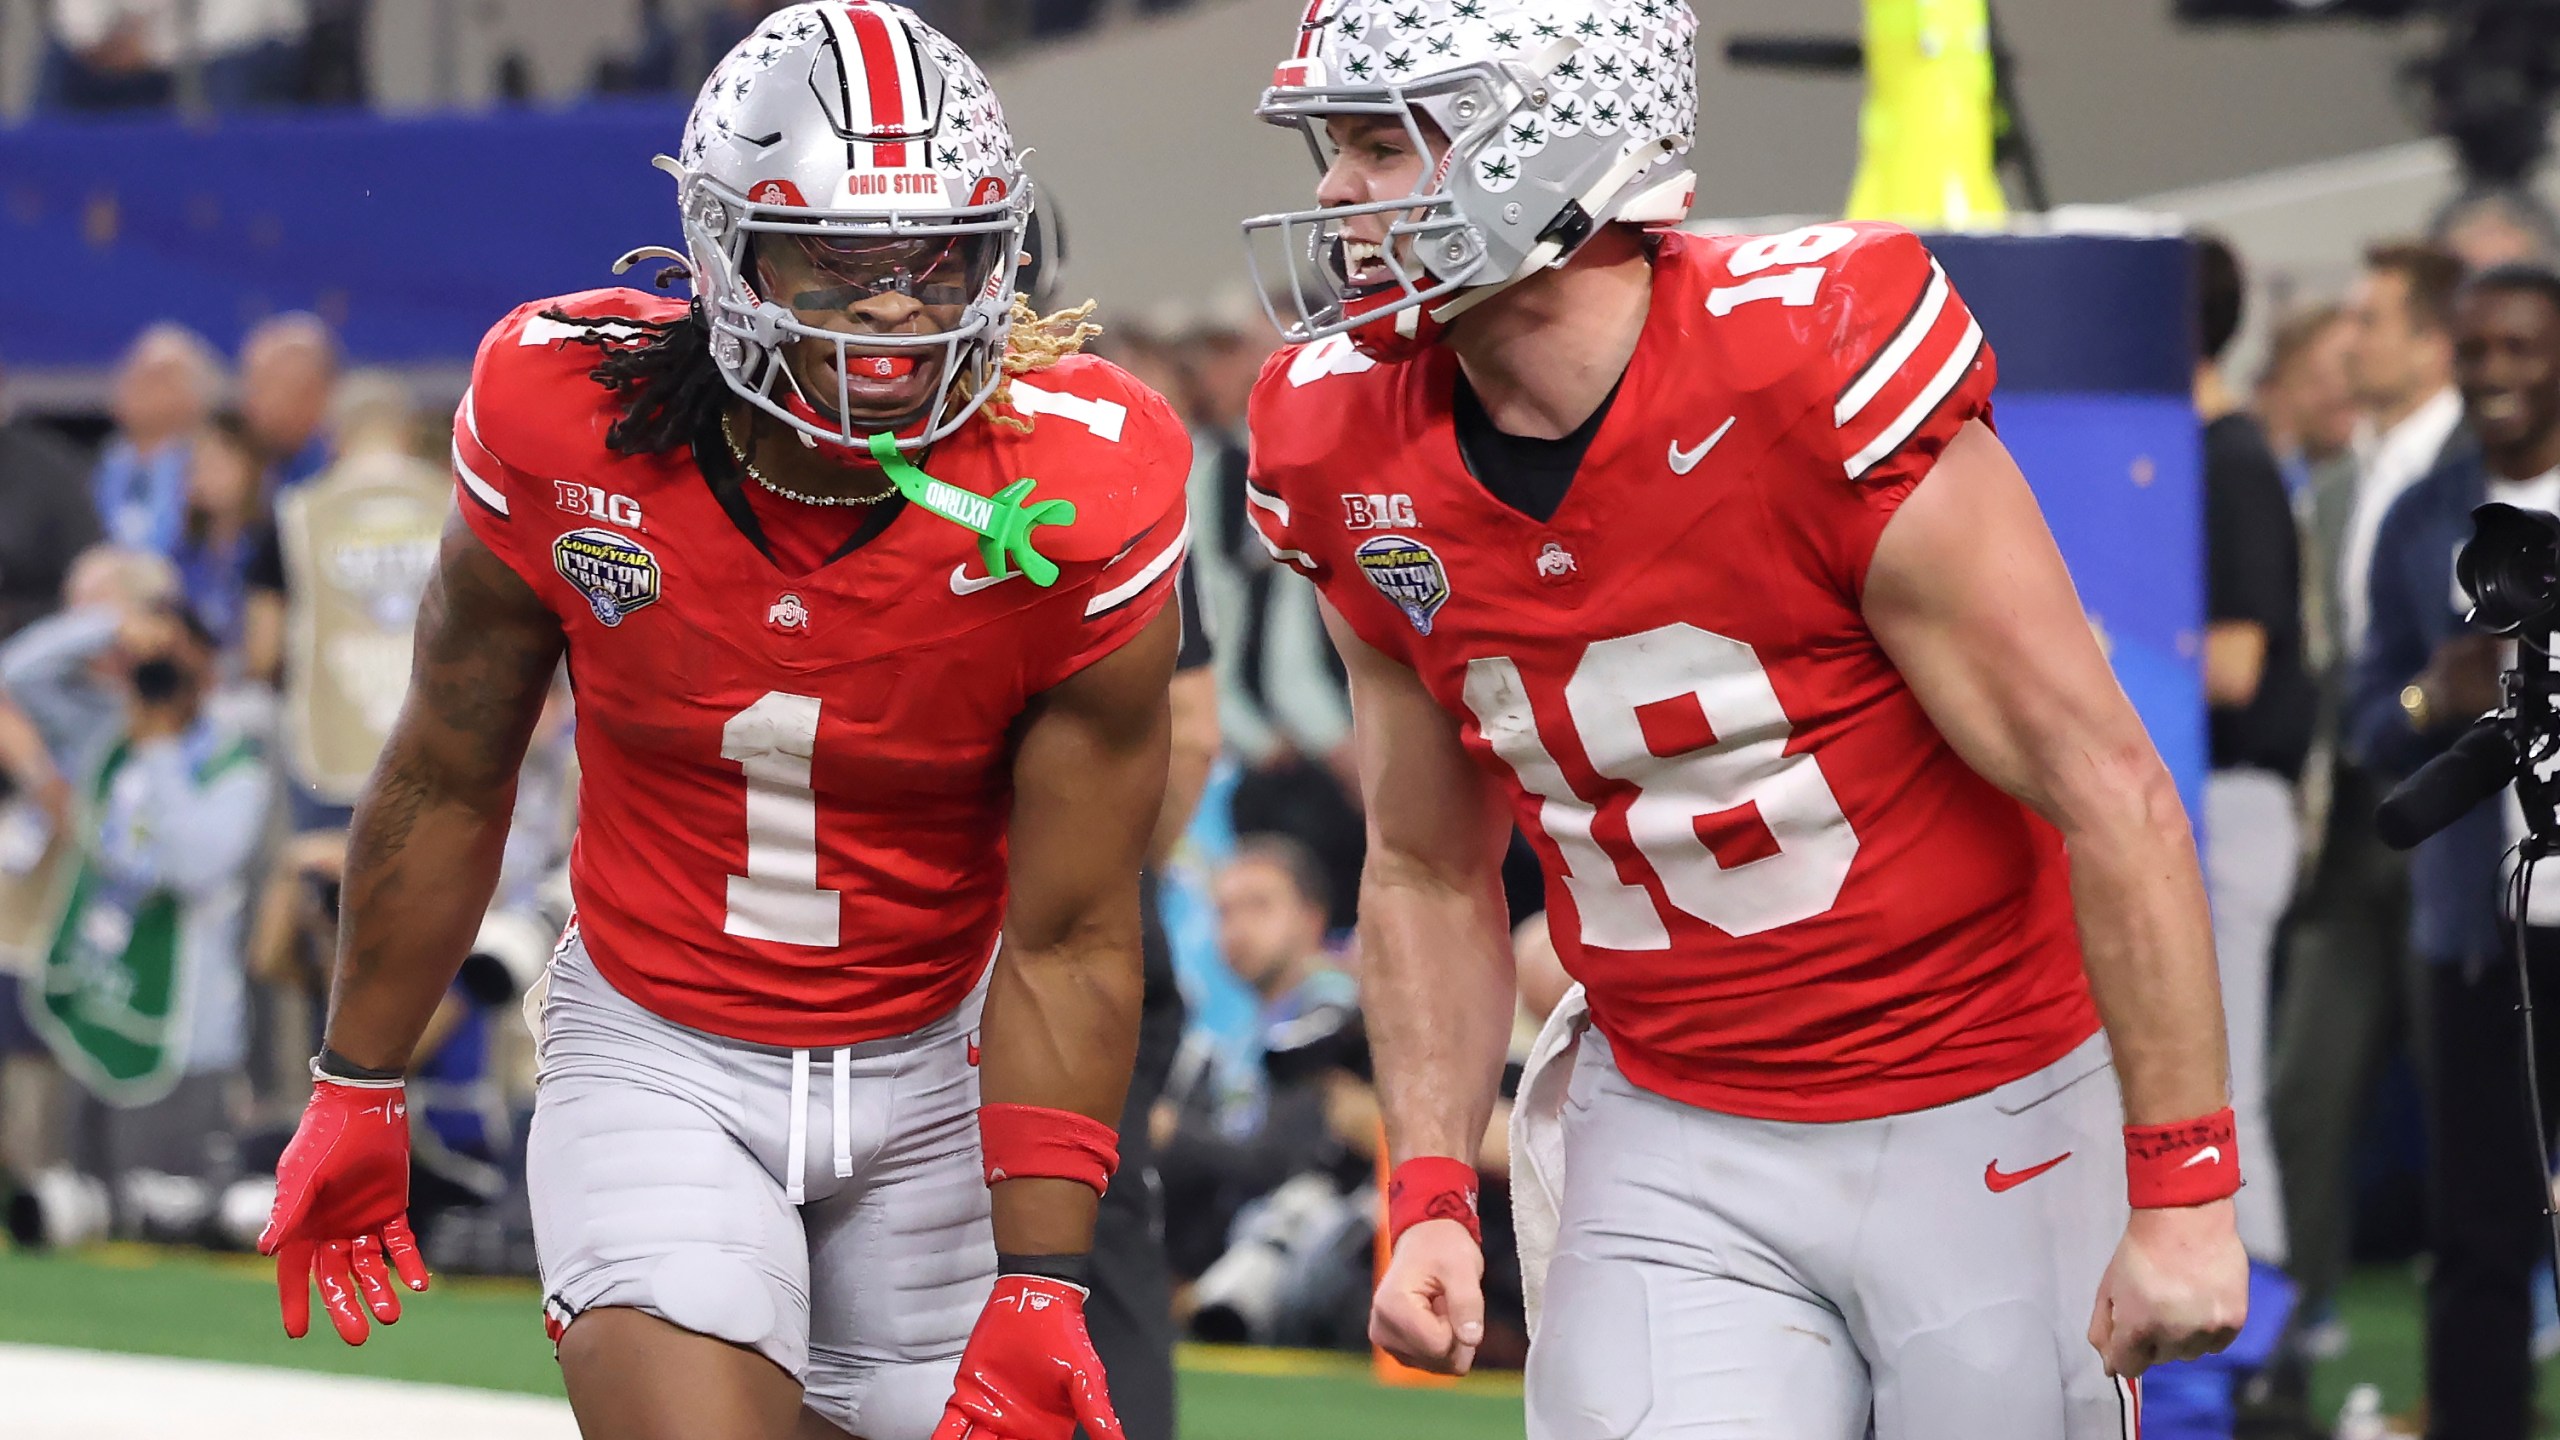
[[[2230,1102],[2222,984],[2204,876],[2158,756],[2092,766],[2063,805],[2081,958],[2115,1048],[2130,1125],[2171,1125]]]

